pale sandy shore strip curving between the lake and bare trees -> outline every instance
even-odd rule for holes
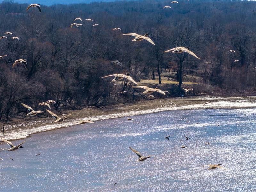
[[[209,102],[210,101],[210,102]],[[204,103],[209,102],[205,105]],[[26,138],[31,134],[53,129],[70,127],[82,120],[99,121],[103,119],[134,116],[168,110],[187,109],[220,109],[220,108],[250,108],[256,107],[256,97],[189,97],[144,100],[129,105],[115,105],[112,108],[86,108],[76,111],[65,111],[72,116],[62,123],[52,123],[51,118],[25,117],[13,119],[4,124],[4,136],[7,140]],[[48,114],[47,114],[48,115]],[[59,114],[57,114],[59,115]],[[97,123],[97,122],[96,122]],[[81,125],[81,126],[86,126]],[[1,130],[1,129],[0,129]],[[0,134],[3,135],[2,130]]]

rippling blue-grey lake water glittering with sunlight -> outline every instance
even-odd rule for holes
[[[255,191],[255,112],[164,111],[37,133],[0,152],[0,191]],[[129,146],[152,158],[137,162]],[[218,163],[228,170],[204,167]]]

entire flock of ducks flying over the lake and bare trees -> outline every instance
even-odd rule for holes
[[[177,2],[177,1],[172,1],[171,3],[178,3],[178,2]],[[33,8],[33,7],[37,7],[38,10],[39,10],[39,12],[42,12],[42,11],[41,11],[41,7],[40,7],[40,4],[31,4],[31,5],[29,5],[28,8],[26,9],[26,11],[28,11],[31,7],[32,7],[32,8]],[[171,8],[171,7],[170,7],[170,6],[164,6],[163,8],[165,9],[165,8]],[[78,20],[82,21],[82,19],[79,18],[79,17],[77,17],[77,18],[74,19],[74,21],[78,21]],[[92,19],[85,19],[85,20],[86,20],[86,21],[93,21]],[[70,28],[72,28],[72,27],[78,27],[78,28],[79,28],[79,26],[82,26],[82,25],[83,25],[83,24],[80,24],[80,23],[76,23],[76,22],[75,22],[75,23],[72,23],[72,24],[71,24]],[[94,24],[94,25],[92,25],[92,26],[98,26],[98,25],[99,25],[99,24]],[[116,30],[120,30],[120,31],[121,31],[121,28],[113,28],[112,30],[113,30],[113,31],[116,31]],[[6,35],[12,35],[11,32],[6,32],[5,34],[6,34]],[[148,34],[139,35],[139,34],[137,34],[137,33],[126,33],[126,34],[123,34],[123,35],[130,35],[130,36],[133,36],[134,39],[133,39],[132,41],[142,41],[142,40],[146,40],[146,41],[148,41],[149,43],[155,45],[155,43],[152,41],[152,39],[148,37]],[[6,36],[0,37],[0,39],[4,39],[4,38],[7,39]],[[19,40],[18,37],[12,37],[12,39],[17,39],[17,40]],[[190,48],[189,48],[189,47],[187,47],[187,48],[185,48],[185,47],[175,47],[175,48],[172,48],[172,49],[169,49],[169,50],[164,51],[164,53],[168,53],[168,52],[172,52],[172,53],[176,53],[176,54],[180,54],[180,53],[186,52],[186,53],[188,53],[188,54],[190,54],[190,55],[196,57],[197,59],[200,59],[198,56],[196,56],[195,53],[193,53],[192,51],[190,51]],[[235,50],[229,50],[229,52],[235,52]],[[0,58],[6,57],[6,56],[7,56],[7,55],[3,55],[3,56],[0,56]],[[239,60],[233,60],[233,61],[234,61],[234,62],[238,62]],[[205,62],[205,63],[206,63],[206,64],[210,64],[210,62]],[[28,65],[27,65],[27,60],[26,60],[26,59],[18,59],[18,60],[16,60],[16,61],[13,63],[13,66],[12,66],[12,67],[14,68],[17,64],[22,64],[23,67],[24,67],[26,70],[28,70]],[[110,83],[114,83],[114,82],[116,82],[116,81],[118,81],[118,80],[122,80],[122,79],[127,79],[128,81],[132,82],[133,84],[138,85],[138,83],[130,76],[129,73],[126,73],[126,74],[112,74],[112,75],[104,76],[104,77],[102,77],[102,78],[107,78],[107,77],[110,77],[110,76],[115,76],[114,79],[113,79]],[[168,91],[162,91],[162,90],[160,90],[160,89],[158,89],[158,88],[150,88],[150,87],[147,87],[147,86],[133,86],[132,88],[144,89],[145,91],[142,92],[143,94],[151,94],[151,93],[153,93],[153,92],[158,92],[158,93],[160,93],[160,94],[162,94],[162,95],[166,95],[166,93],[169,93]],[[193,89],[191,89],[191,88],[189,88],[189,89],[183,89],[183,90],[184,90],[185,92],[193,91]],[[124,93],[124,92],[126,92],[126,91],[119,92],[119,93]],[[169,94],[170,94],[170,93],[169,93]],[[153,95],[149,95],[148,98],[154,98],[154,96],[153,96]],[[40,105],[40,106],[47,106],[49,109],[51,109],[50,104],[52,104],[52,103],[56,103],[56,102],[55,102],[54,100],[48,100],[48,101],[46,101],[46,102],[39,103],[39,105]],[[206,103],[204,103],[203,105],[205,105],[205,104],[207,104],[207,103],[209,103],[209,102],[206,102]],[[35,111],[35,110],[34,110],[33,108],[31,108],[30,106],[28,106],[28,105],[26,105],[26,104],[24,104],[24,103],[21,103],[21,104],[22,104],[22,106],[24,106],[25,108],[28,109],[29,113],[27,114],[27,116],[35,116],[35,115],[37,115],[37,114],[39,114],[39,113],[43,113],[43,112],[44,112],[44,111],[41,111],[41,110]],[[50,111],[50,110],[48,110],[48,109],[46,109],[46,111],[47,111],[50,115],[52,115],[52,116],[55,118],[54,123],[63,122],[64,120],[68,119],[68,118],[67,118],[68,116],[71,116],[71,114],[68,114],[68,115],[62,114],[63,116],[62,116],[62,117],[59,117],[58,115],[56,115],[55,113],[53,113],[52,111]],[[127,120],[133,120],[133,119],[128,118]],[[79,124],[86,124],[86,123],[94,123],[94,122],[92,122],[92,121],[90,121],[90,120],[85,120],[85,121],[79,122]],[[137,123],[140,123],[140,122],[137,122]],[[168,141],[170,140],[170,139],[169,139],[170,136],[166,136],[165,138],[166,138]],[[189,139],[190,139],[190,138],[186,137],[186,140],[189,140]],[[6,149],[6,150],[8,150],[8,151],[14,151],[14,150],[17,150],[17,149],[19,149],[19,148],[22,148],[22,144],[25,143],[25,141],[23,141],[23,142],[20,143],[19,145],[15,146],[15,145],[13,145],[13,144],[12,144],[10,141],[8,141],[8,140],[5,140],[5,139],[3,139],[3,138],[1,138],[1,140],[4,141],[4,143],[6,143],[6,144],[8,144],[8,145],[10,146],[9,149]],[[209,142],[205,142],[204,144],[205,144],[205,145],[210,145]],[[148,158],[151,157],[151,156],[143,156],[139,151],[133,149],[132,147],[129,147],[129,148],[132,150],[132,152],[136,153],[136,155],[139,157],[139,158],[138,158],[138,161],[145,161],[146,159],[148,159]],[[187,148],[187,146],[181,146],[181,148]],[[40,153],[36,154],[36,156],[38,156],[38,155],[40,155]],[[0,158],[0,160],[3,160],[3,159]],[[10,160],[14,161],[12,157],[10,157]],[[220,165],[221,165],[221,164],[209,164],[209,165],[207,165],[207,166],[209,166],[208,169],[215,169],[215,168],[222,168],[222,169],[225,169],[225,168],[223,168],[223,167],[220,166]],[[117,184],[117,183],[114,183],[114,185],[116,185],[116,184]]]

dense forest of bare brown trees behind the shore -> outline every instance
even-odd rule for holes
[[[21,116],[21,102],[55,100],[54,108],[81,109],[133,102],[142,96],[123,81],[113,85],[101,77],[129,72],[136,80],[178,81],[165,87],[184,94],[182,82],[197,82],[196,89],[218,87],[234,92],[256,89],[256,2],[180,0],[120,1],[41,6],[26,12],[28,4],[0,4],[0,120]],[[76,17],[83,26],[70,28]],[[91,18],[94,21],[85,21]],[[92,26],[93,24],[98,26]],[[121,31],[112,31],[113,28]],[[11,35],[4,35],[10,31]],[[148,33],[147,41],[132,42],[123,33]],[[190,47],[201,60],[186,54],[163,53]],[[235,52],[229,52],[235,50]],[[12,68],[17,59],[27,59]],[[233,60],[239,60],[234,62]],[[211,62],[211,64],[205,64]],[[165,85],[166,86],[166,85]],[[193,87],[191,87],[193,88]],[[117,92],[130,91],[119,95]],[[195,92],[196,93],[196,92]]]

